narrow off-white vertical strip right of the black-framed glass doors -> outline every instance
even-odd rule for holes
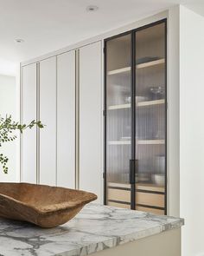
[[[179,179],[179,6],[169,9],[168,19],[168,214],[180,214]]]

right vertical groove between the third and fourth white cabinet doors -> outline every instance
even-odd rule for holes
[[[76,92],[75,92],[75,127],[76,127],[76,141],[75,141],[75,188],[80,187],[80,49],[76,50]]]

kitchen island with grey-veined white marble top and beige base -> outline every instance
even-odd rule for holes
[[[89,204],[62,226],[0,219],[1,256],[180,256],[179,218]]]

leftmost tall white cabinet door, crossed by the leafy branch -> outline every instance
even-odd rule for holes
[[[22,123],[36,120],[36,63],[22,67]],[[36,183],[36,128],[22,135],[21,181]]]

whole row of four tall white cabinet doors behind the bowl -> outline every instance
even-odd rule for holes
[[[102,202],[101,42],[22,67],[22,180],[95,193]]]

